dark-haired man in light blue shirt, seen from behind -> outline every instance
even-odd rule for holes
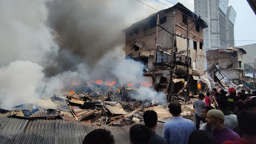
[[[173,118],[164,125],[164,138],[168,144],[187,144],[188,137],[196,130],[194,123],[181,117],[179,102],[171,102],[168,107]]]

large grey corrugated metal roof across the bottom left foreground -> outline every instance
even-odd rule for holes
[[[130,126],[89,126],[69,120],[23,120],[0,117],[1,144],[82,144],[84,137],[95,129],[107,129],[115,144],[128,144]],[[141,123],[143,124],[143,123]],[[164,125],[158,123],[156,133],[162,135]]]

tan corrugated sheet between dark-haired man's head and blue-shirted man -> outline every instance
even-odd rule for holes
[[[147,110],[155,111],[157,113],[158,118],[170,118],[171,117],[171,114],[168,111],[166,105],[149,107],[149,108],[145,109],[145,111],[147,111]]]

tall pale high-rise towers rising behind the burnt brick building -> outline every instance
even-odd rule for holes
[[[228,5],[228,0],[194,0],[194,13],[211,25],[204,29],[204,54],[207,50],[235,46],[236,11]]]

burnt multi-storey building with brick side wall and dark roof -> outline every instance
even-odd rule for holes
[[[190,30],[189,56],[190,64],[192,65],[189,69],[189,74],[192,74],[198,80],[198,76],[203,76],[204,73],[203,29],[208,27],[208,25],[179,2],[173,7],[164,9],[161,12],[162,13],[154,13],[148,18],[138,21],[122,30],[126,33],[126,56],[134,60],[142,61],[148,70],[144,75],[149,77],[152,76],[157,14],[159,14],[159,25],[164,28],[168,27],[167,30],[169,30],[169,32],[174,31],[174,34],[176,34],[172,37],[171,34],[168,34],[162,28],[158,28],[157,43],[162,44],[162,47],[160,48],[161,51],[167,54],[172,54],[171,61],[175,61],[175,59],[173,59],[173,54],[175,55],[175,53],[180,52],[181,55],[186,56],[187,39],[184,37],[187,35],[186,24],[188,20],[190,22],[188,24]],[[163,13],[170,15],[171,17],[168,17]],[[177,69],[180,72],[186,72],[184,66],[177,65]],[[159,82],[161,75],[163,75],[161,72],[156,73],[156,83]]]

